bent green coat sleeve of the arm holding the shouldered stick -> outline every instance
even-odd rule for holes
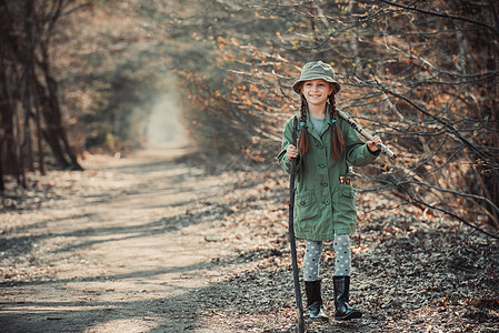
[[[353,130],[346,121],[342,122],[341,131],[345,139],[347,161],[353,167],[370,164],[379,155],[380,151],[371,152],[368,145],[360,140],[356,130]]]

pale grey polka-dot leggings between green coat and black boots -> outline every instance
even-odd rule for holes
[[[335,275],[350,276],[351,251],[348,234],[335,234]],[[303,279],[307,282],[319,280],[319,260],[322,252],[322,242],[305,241]]]

